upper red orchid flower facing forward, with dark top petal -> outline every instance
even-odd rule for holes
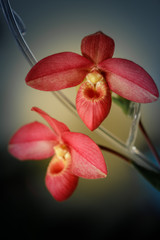
[[[76,98],[79,116],[96,129],[111,108],[111,91],[134,102],[155,101],[158,89],[150,75],[126,59],[112,58],[114,41],[102,32],[82,39],[82,55],[63,52],[39,61],[26,83],[36,89],[57,91],[81,84]]]

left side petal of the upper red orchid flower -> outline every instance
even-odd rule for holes
[[[54,54],[33,66],[26,77],[26,83],[43,91],[74,87],[83,81],[92,65],[88,59],[76,53]]]

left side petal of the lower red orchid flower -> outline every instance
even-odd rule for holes
[[[54,154],[53,146],[57,136],[51,129],[39,122],[21,127],[9,142],[9,152],[20,160],[40,160]]]

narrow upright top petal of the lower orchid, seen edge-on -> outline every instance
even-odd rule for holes
[[[69,128],[62,122],[57,121],[56,119],[50,117],[46,112],[42,111],[40,108],[33,107],[32,111],[39,113],[51,126],[57,136],[61,136],[61,134],[65,131],[69,131]]]

